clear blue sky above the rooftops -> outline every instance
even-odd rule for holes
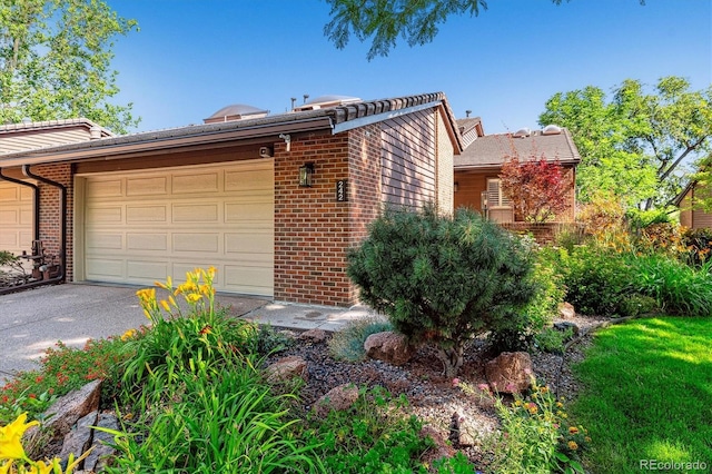
[[[485,132],[537,128],[546,100],[587,85],[663,76],[712,83],[709,0],[488,0],[452,17],[429,45],[403,40],[366,60],[368,43],[338,50],[324,36],[324,0],[108,0],[140,31],[116,41],[117,102],[136,131],[201,124],[230,103],[285,112],[308,93],[382,99],[443,91],[457,118]]]

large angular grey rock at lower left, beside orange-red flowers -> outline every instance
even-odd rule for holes
[[[72,391],[60,397],[44,412],[47,419],[44,427],[56,436],[63,436],[69,433],[79,418],[98,411],[102,382],[90,382],[78,391]]]

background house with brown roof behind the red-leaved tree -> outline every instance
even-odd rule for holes
[[[544,157],[558,161],[571,182],[570,210],[556,216],[556,220],[574,220],[575,168],[581,156],[568,130],[548,126],[535,131],[522,129],[515,134],[484,135],[477,118],[461,119],[457,124],[465,149],[454,159],[455,207],[471,207],[497,223],[524,220],[515,215],[500,186],[502,165],[512,157],[520,161]]]

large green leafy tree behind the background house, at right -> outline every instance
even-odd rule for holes
[[[664,207],[681,190],[681,166],[712,147],[712,87],[692,91],[686,79],[671,76],[650,93],[626,79],[607,98],[589,86],[554,95],[540,124],[571,130],[582,157],[582,200],[606,190],[630,207]]]

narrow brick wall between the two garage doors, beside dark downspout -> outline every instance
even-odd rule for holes
[[[33,166],[31,171],[34,175],[59,182],[67,187],[67,243],[65,269],[66,280],[72,280],[72,223],[73,223],[73,186],[71,177],[71,165],[39,165]],[[38,184],[40,188],[40,240],[44,245],[48,255],[59,255],[61,247],[61,195],[57,187],[44,182]],[[58,261],[59,263],[59,261]]]

